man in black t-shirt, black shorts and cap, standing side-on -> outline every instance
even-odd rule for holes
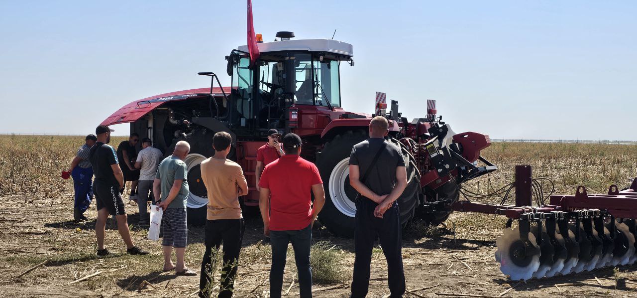
[[[119,167],[115,149],[108,144],[111,140],[111,130],[106,125],[97,126],[95,134],[97,142],[90,147],[89,160],[95,172],[93,183],[95,200],[97,205],[97,223],[95,234],[97,235],[97,255],[106,256],[110,252],[104,248],[104,234],[106,234],[106,219],[108,214],[115,216],[117,230],[126,243],[126,252],[129,255],[146,255],[148,251],[135,246],[131,239],[131,230],[128,228],[124,201],[121,193],[124,192],[124,175]]]

